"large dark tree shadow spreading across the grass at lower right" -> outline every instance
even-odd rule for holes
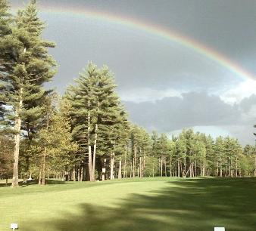
[[[254,231],[255,196],[256,178],[176,180],[151,196],[132,194],[111,207],[82,204],[78,215],[30,221],[34,229],[24,230],[207,231],[225,226],[226,231]]]

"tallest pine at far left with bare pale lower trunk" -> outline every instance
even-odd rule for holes
[[[5,101],[11,110],[6,120],[14,132],[14,173],[12,186],[18,186],[20,134],[26,122],[37,120],[42,112],[42,98],[48,94],[42,87],[55,75],[55,61],[48,55],[48,48],[55,45],[41,38],[45,24],[37,17],[36,1],[18,11],[8,35],[5,56],[10,63],[3,63],[7,75],[2,79]]]

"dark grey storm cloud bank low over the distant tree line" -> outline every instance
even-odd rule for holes
[[[125,105],[130,119],[149,131],[170,132],[198,125],[216,126],[225,128],[239,140],[254,142],[251,134],[256,123],[256,95],[233,106],[207,93],[190,92],[182,96],[166,97],[155,103],[125,102]]]

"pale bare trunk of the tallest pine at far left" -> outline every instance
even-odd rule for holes
[[[19,186],[19,154],[20,154],[20,129],[21,129],[21,118],[20,118],[20,112],[23,105],[23,88],[20,88],[20,100],[19,105],[17,106],[17,109],[15,110],[15,135],[14,135],[14,172],[12,177],[12,187],[18,187]]]

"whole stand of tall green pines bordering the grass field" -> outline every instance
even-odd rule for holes
[[[36,1],[11,12],[0,0],[0,178],[13,187],[19,179],[256,177],[255,146],[130,122],[108,66],[88,62],[63,95],[45,88],[58,71],[48,51],[55,42],[42,38]]]

